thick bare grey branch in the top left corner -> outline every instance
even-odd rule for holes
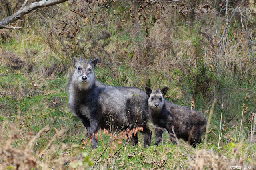
[[[28,6],[26,6],[28,0],[25,0],[25,2],[22,4],[22,7],[18,12],[12,14],[11,16],[8,16],[7,18],[4,18],[0,21],[0,29],[7,28],[7,29],[21,29],[21,27],[13,27],[13,26],[7,26],[9,23],[12,23],[13,21],[16,21],[20,19],[25,14],[30,13],[32,10],[36,10],[38,8],[43,8],[47,6],[53,6],[56,4],[60,4],[63,2],[66,2],[68,0],[41,0],[39,2],[34,2]]]

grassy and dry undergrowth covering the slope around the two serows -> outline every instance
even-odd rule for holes
[[[34,15],[26,23],[20,22],[22,31],[1,30],[0,169],[256,166],[255,44],[248,42],[248,31],[255,37],[255,30],[242,27],[239,14],[218,46],[226,24],[220,1],[148,6],[137,1],[112,2],[105,13],[89,21],[83,16],[90,10],[85,8],[86,3],[83,12],[70,11],[78,11],[82,5],[79,3],[45,8],[39,12],[40,17]],[[230,2],[229,7],[248,5],[240,3]],[[8,8],[5,5],[0,5],[5,9],[1,17],[20,6],[18,2]],[[196,10],[189,11],[190,7]],[[99,8],[94,4],[92,9]],[[72,24],[88,27],[71,27],[45,13],[67,21],[82,17]],[[254,28],[254,13],[246,17],[249,28]],[[90,27],[96,21],[104,24]],[[131,147],[129,141],[115,139],[114,133],[102,130],[98,132],[102,133],[99,147],[90,149],[86,128],[67,106],[66,85],[74,69],[74,57],[99,57],[94,72],[104,84],[142,89],[168,86],[167,100],[188,107],[194,100],[195,109],[211,118],[207,143],[202,136],[203,143],[196,148],[182,140],[173,145],[164,133],[158,147],[144,149],[139,132],[139,145]],[[215,98],[217,103],[210,115]],[[149,124],[153,145],[154,128]]]

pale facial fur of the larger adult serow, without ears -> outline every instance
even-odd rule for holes
[[[94,72],[90,64],[80,62],[76,64],[76,70],[72,76],[72,81],[79,90],[87,90],[94,83]]]

